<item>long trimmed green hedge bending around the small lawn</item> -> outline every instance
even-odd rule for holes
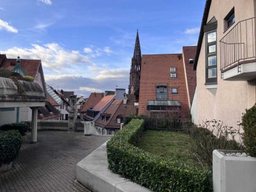
[[[143,123],[131,120],[108,141],[109,169],[153,191],[211,191],[209,170],[169,161],[136,147]]]

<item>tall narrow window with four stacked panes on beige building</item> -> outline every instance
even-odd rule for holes
[[[205,83],[217,82],[217,54],[216,54],[217,32],[216,29],[206,33],[206,66]]]

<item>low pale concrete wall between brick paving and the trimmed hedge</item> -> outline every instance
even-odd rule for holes
[[[94,192],[150,192],[108,169],[106,145],[94,150],[76,165],[77,181]]]

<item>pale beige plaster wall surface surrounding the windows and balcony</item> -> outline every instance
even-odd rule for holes
[[[213,0],[209,11],[207,22],[216,17],[218,20],[217,28],[217,88],[207,89],[205,86],[205,36],[203,39],[198,65],[196,69],[196,104],[195,114],[193,116],[196,124],[202,120],[217,119],[222,120],[225,124],[237,126],[237,121],[241,120],[242,113],[246,108],[251,108],[255,104],[255,81],[225,81],[221,79],[220,71],[220,40],[228,33],[239,20],[255,17],[253,0]],[[225,33],[224,21],[228,12],[235,7],[236,22]],[[246,10],[246,11],[245,11]],[[249,40],[249,39],[248,39]]]

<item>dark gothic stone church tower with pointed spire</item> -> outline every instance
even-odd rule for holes
[[[137,29],[134,53],[131,61],[130,84],[129,84],[129,94],[134,94],[136,96],[136,100],[139,99],[139,92],[140,92],[140,70],[141,70],[141,50],[140,50],[139,32]]]

